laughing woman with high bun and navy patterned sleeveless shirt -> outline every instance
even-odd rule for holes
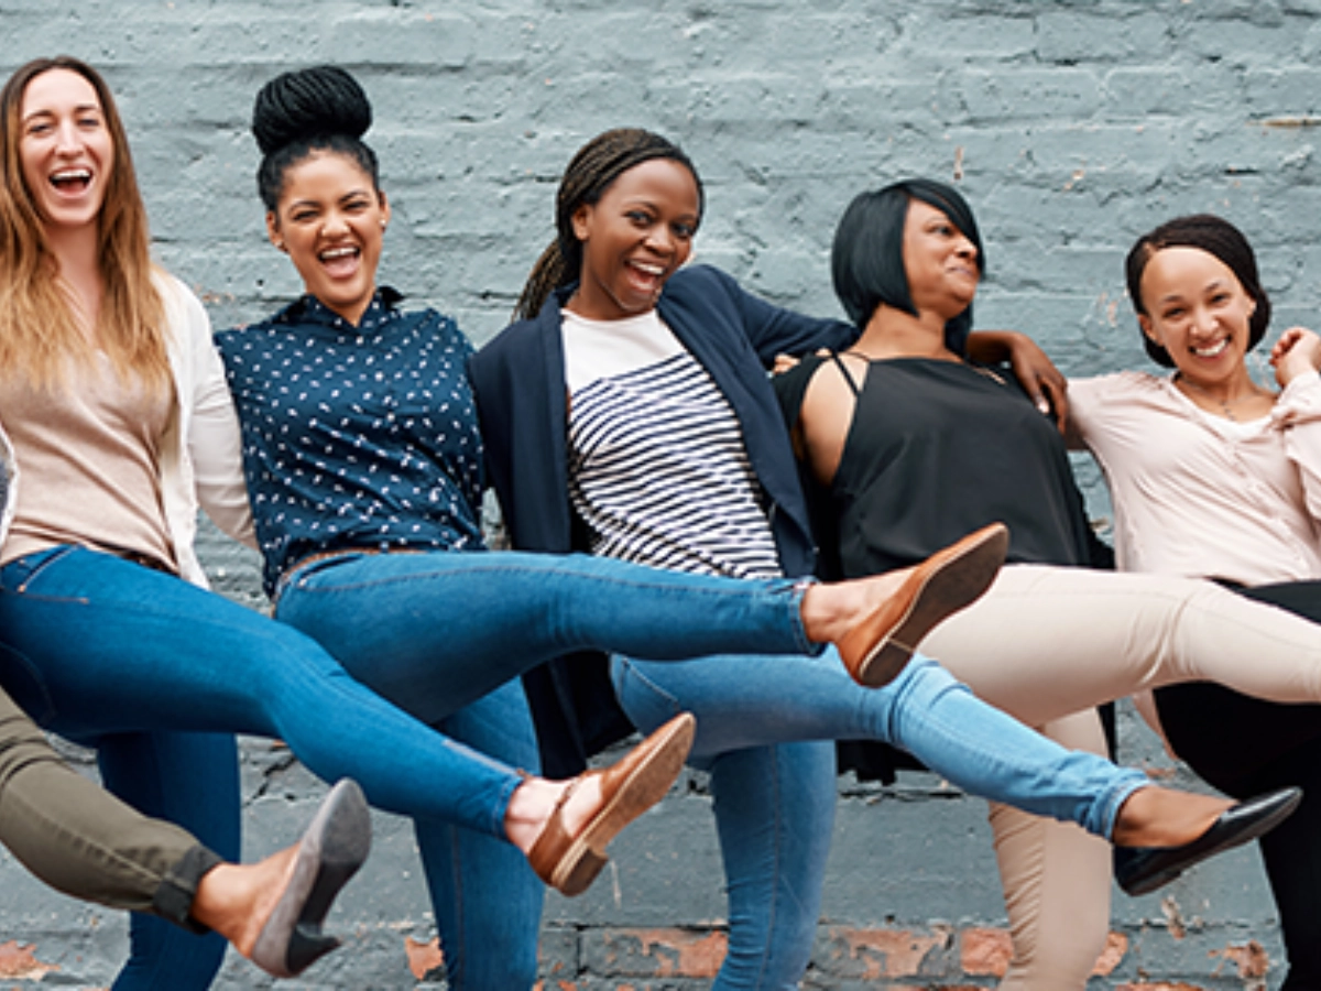
[[[964,576],[968,560],[942,558],[898,580],[808,585],[487,551],[472,346],[452,318],[406,311],[376,283],[390,203],[362,141],[366,92],[336,66],[304,69],[263,86],[252,116],[267,231],[305,289],[267,320],[217,336],[242,422],[266,591],[283,629],[308,634],[358,682],[495,758],[498,790],[456,797],[464,815],[413,819],[449,987],[531,987],[536,876],[567,895],[583,891],[610,838],[679,773],[694,721],[670,712],[625,772],[555,785],[546,794],[559,811],[524,856],[498,826],[510,797],[526,790],[505,765],[538,762],[518,675],[583,649],[672,661],[798,654],[832,641],[859,665],[902,663],[908,651],[890,633],[908,629],[906,606],[926,612],[925,589]],[[984,580],[999,564],[985,555],[971,563]],[[778,663],[768,662],[768,680]]]

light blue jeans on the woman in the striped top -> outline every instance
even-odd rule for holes
[[[667,665],[616,657],[612,670],[645,732],[675,712],[697,717],[691,760],[711,770],[729,889],[729,953],[713,991],[787,991],[807,969],[835,805],[834,744],[820,741],[894,744],[964,791],[1107,838],[1124,799],[1149,784],[1061,748],[926,658],[880,690],[856,684],[834,650]]]

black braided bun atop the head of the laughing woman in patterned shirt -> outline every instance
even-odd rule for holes
[[[281,73],[256,94],[252,136],[263,155],[310,137],[362,137],[371,127],[371,102],[339,66]]]

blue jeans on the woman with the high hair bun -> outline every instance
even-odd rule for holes
[[[670,572],[618,562],[600,567],[606,562],[503,552],[346,554],[292,572],[281,583],[275,616],[400,708],[478,751],[532,769],[531,716],[522,684],[510,679],[563,653],[556,643],[633,640],[654,657],[692,657],[687,634],[666,628],[691,630],[697,616],[683,610],[709,606],[676,600],[679,612],[668,612],[651,589],[655,581],[697,587],[672,585]],[[777,624],[782,649],[808,649],[797,620],[799,596],[786,595],[786,581],[769,588],[777,605],[794,606],[794,617]],[[682,593],[686,601],[690,596]],[[362,622],[365,616],[373,622]],[[526,859],[458,827],[437,835],[429,826],[417,835],[449,986],[531,987],[543,892]]]

